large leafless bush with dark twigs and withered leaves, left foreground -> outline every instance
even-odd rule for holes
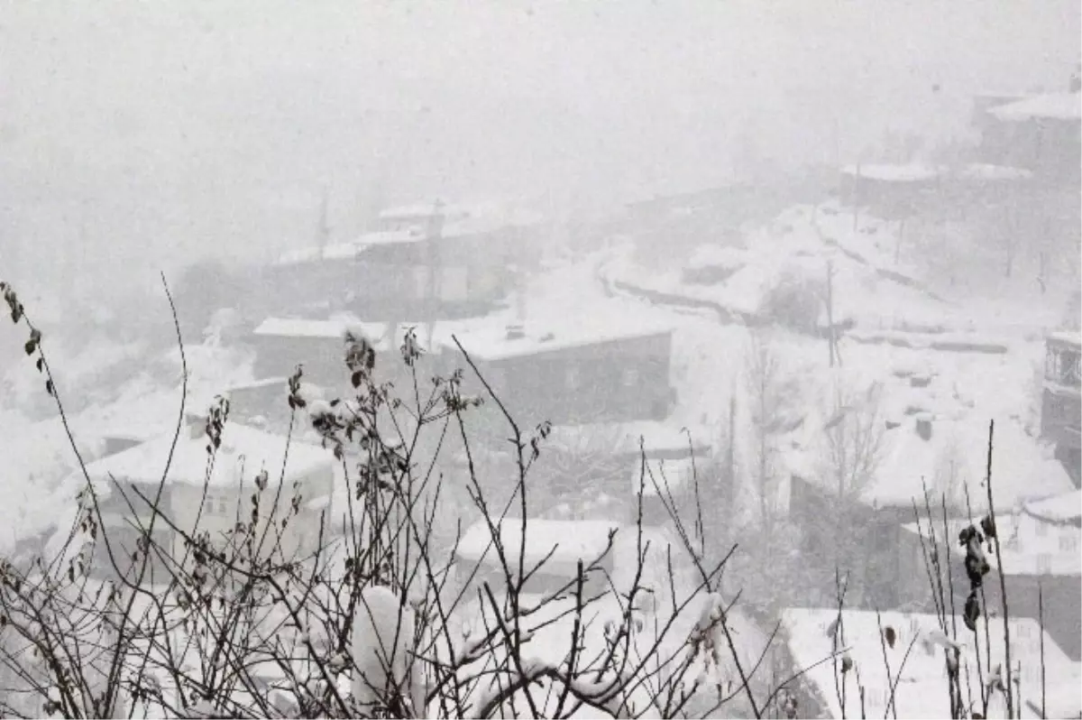
[[[29,328],[26,353],[67,428],[41,333],[15,292],[6,285],[0,291],[12,319]],[[175,311],[173,317],[183,361]],[[422,390],[417,343],[407,337],[401,353],[414,370],[413,387],[411,400],[401,400],[379,382],[383,358],[364,338],[347,335],[344,351],[348,397],[305,400],[298,368],[282,402],[292,413],[291,435],[311,423],[341,464],[346,532],[332,534],[325,513],[315,549],[288,550],[283,538],[301,522],[307,498],[275,482],[268,470],[247,485],[251,495],[236,524],[211,534],[171,516],[161,502],[164,472],[155,487],[124,489],[94,481],[80,459],[85,483],[61,551],[29,567],[0,567],[0,668],[11,682],[0,694],[5,717],[43,710],[72,720],[479,720],[513,710],[550,719],[586,707],[622,719],[685,718],[694,707],[700,718],[735,698],[751,717],[766,716],[776,693],[756,696],[752,681],[763,670],[738,652],[730,605],[717,591],[724,559],[704,562],[701,519],[687,529],[674,512],[677,540],[655,548],[668,568],[663,606],[646,602],[650,541],[641,521],[629,528],[636,562],[619,591],[606,560],[619,539],[613,534],[596,557],[580,557],[559,587],[531,593],[528,584],[550,572],[558,548],[540,560],[526,551],[527,479],[546,428],[524,433],[503,411],[515,493],[511,502],[493,506],[469,442],[474,407],[484,400],[503,409],[484,378],[477,374],[484,398],[463,392],[462,372],[437,377]],[[181,396],[174,447],[186,409],[186,392]],[[208,482],[228,422],[228,403],[220,402],[206,428]],[[437,442],[422,443],[426,434]],[[433,470],[436,458],[417,448],[438,454],[452,438],[465,471],[445,481]],[[461,529],[450,541],[435,535],[437,516],[446,512],[445,482],[464,484],[490,534],[485,554],[494,573],[456,562]],[[117,541],[105,522],[107,493],[120,493],[131,511],[134,548]],[[509,522],[514,544],[502,532]],[[159,539],[162,528],[172,542]],[[107,559],[113,579],[95,578],[95,553]],[[676,555],[692,571],[684,587],[673,570]],[[703,665],[713,667],[711,679],[697,676]]]

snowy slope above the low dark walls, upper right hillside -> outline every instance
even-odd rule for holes
[[[868,217],[855,225],[853,214],[835,204],[797,206],[767,225],[745,228],[741,237],[699,247],[682,264],[642,266],[625,253],[606,272],[639,288],[747,314],[761,312],[771,289],[784,282],[817,296],[821,324],[831,273],[834,322],[863,330],[934,328],[1026,337],[1059,323],[1070,283],[1041,292],[1020,271],[1007,282],[990,266],[998,262],[992,252],[961,231],[951,234],[949,244],[928,247],[948,232],[918,232]],[[944,264],[950,253],[961,266],[953,287],[940,282],[936,263],[924,257],[932,254]],[[710,282],[711,272],[724,279]]]

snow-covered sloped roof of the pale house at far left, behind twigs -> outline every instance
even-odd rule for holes
[[[160,482],[172,443],[173,433],[163,433],[142,445],[88,464],[87,473],[92,480],[111,476],[118,482]],[[202,433],[198,437],[192,437],[188,429],[182,428],[169,464],[168,482],[202,485],[210,459],[207,451],[209,443],[209,438]],[[328,449],[227,422],[222,431],[222,445],[209,483],[220,487],[239,485],[240,482],[251,483],[255,474],[264,469],[276,481],[281,476],[283,461],[287,480],[334,467],[333,455]]]

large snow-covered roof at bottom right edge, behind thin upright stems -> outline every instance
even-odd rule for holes
[[[950,642],[940,630],[938,617],[932,614],[911,614],[873,611],[844,611],[839,646],[848,649],[853,669],[842,673],[842,658],[827,659],[834,652],[831,637],[836,608],[794,610],[782,612],[781,621],[788,632],[789,650],[797,668],[805,669],[804,679],[817,691],[824,710],[833,718],[879,717],[887,712],[892,698],[897,717],[906,720],[950,717],[945,644]],[[992,667],[1004,664],[1002,621],[993,618],[994,629],[986,636],[984,621],[978,621],[981,672],[978,673],[974,633],[965,629],[962,618],[954,618],[959,628],[961,647],[959,675],[963,688],[976,689],[987,679],[989,669],[986,653],[990,652]],[[882,630],[881,630],[882,625]],[[950,628],[948,621],[948,629]],[[1021,696],[1040,698],[1041,628],[1037,620],[1012,618],[1010,620],[1012,664],[1021,666]],[[883,641],[886,628],[895,634],[894,647]],[[984,638],[991,639],[991,649]],[[1050,688],[1057,684],[1076,684],[1079,673],[1070,658],[1044,632],[1044,669]],[[886,650],[884,651],[884,646]],[[912,650],[910,650],[912,646]],[[884,658],[884,653],[886,658]],[[908,657],[907,657],[908,653]],[[889,666],[889,676],[887,675]],[[1016,665],[1017,667],[1017,665]],[[845,683],[845,708],[841,707],[839,688]],[[861,693],[858,684],[863,686]],[[863,702],[863,707],[861,706]],[[1039,714],[1027,708],[1024,717],[1038,718]]]

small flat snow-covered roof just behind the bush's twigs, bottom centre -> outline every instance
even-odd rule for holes
[[[509,518],[496,523],[500,541],[509,562],[517,564],[522,547],[523,521]],[[552,553],[550,563],[575,564],[581,560],[585,564],[597,560],[608,547],[609,533],[619,529],[620,523],[603,520],[540,520],[526,521],[527,572]],[[630,529],[629,532],[634,532]],[[500,558],[492,542],[492,533],[485,521],[470,527],[459,541],[458,557],[469,561],[480,561],[499,565]]]

